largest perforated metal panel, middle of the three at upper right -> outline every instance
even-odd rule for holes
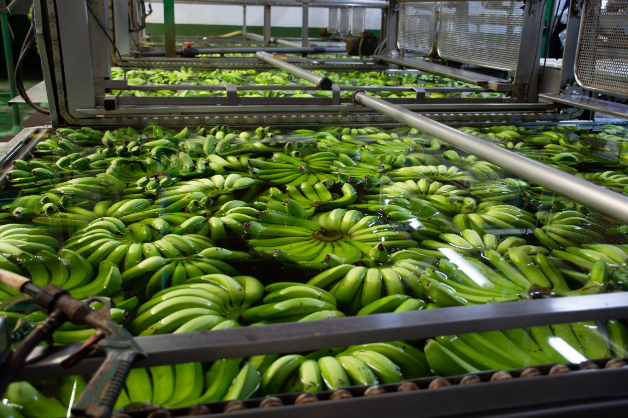
[[[441,1],[438,55],[512,71],[517,67],[523,1]],[[533,59],[533,57],[529,57]]]

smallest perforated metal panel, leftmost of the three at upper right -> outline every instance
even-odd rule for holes
[[[430,55],[434,49],[436,2],[401,3],[397,46],[400,50]]]

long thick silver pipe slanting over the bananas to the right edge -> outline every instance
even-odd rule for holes
[[[626,196],[490,144],[453,127],[432,121],[397,105],[376,99],[364,92],[357,92],[354,95],[354,101],[628,225],[628,197]]]

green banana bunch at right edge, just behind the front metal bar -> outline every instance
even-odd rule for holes
[[[564,251],[553,250],[551,255],[585,271],[591,271],[598,260],[604,260],[609,269],[610,284],[619,289],[628,286],[628,245],[582,244],[581,247],[566,247]],[[568,271],[578,281],[587,278],[571,272],[571,269]]]

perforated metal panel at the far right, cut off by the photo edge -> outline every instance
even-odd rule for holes
[[[585,0],[575,75],[582,87],[628,95],[628,2]]]

